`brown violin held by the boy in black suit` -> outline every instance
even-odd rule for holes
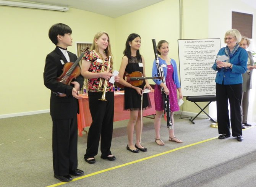
[[[58,82],[62,82],[63,84],[70,85],[71,81],[78,77],[81,74],[81,68],[78,66],[79,61],[83,58],[84,53],[88,51],[88,47],[85,50],[81,50],[81,55],[79,58],[73,62],[67,62],[63,66],[63,73],[57,78]],[[60,97],[66,97],[65,93],[57,93],[56,95]]]

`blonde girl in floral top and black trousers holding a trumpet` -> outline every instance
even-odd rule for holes
[[[98,32],[94,36],[91,51],[83,56],[81,66],[81,74],[88,79],[89,108],[92,116],[86,154],[84,155],[85,161],[89,164],[96,162],[94,156],[98,153],[100,139],[100,158],[115,160],[115,156],[110,151],[114,118],[114,92],[113,84],[108,79],[112,76],[112,59],[109,35],[106,32]],[[101,71],[102,68],[105,71]],[[106,69],[109,69],[109,72]],[[107,84],[104,83],[105,93],[99,88],[101,87],[99,82],[104,81],[107,81]],[[115,76],[115,82],[119,82],[119,76]],[[105,100],[100,99],[103,94]]]

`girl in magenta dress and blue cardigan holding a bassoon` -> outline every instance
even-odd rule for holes
[[[164,110],[164,101],[161,93],[161,87],[164,88],[165,94],[168,95],[170,101],[170,110],[171,110],[171,118],[172,124],[173,120],[173,112],[180,110],[177,99],[177,91],[179,92],[179,98],[182,99],[182,93],[180,88],[180,82],[178,79],[178,70],[177,64],[175,60],[168,57],[169,53],[169,44],[165,40],[161,40],[157,44],[157,52],[159,56],[159,65],[164,65],[163,71],[165,76],[166,85],[159,79],[153,79],[156,83],[154,99],[155,99],[155,108],[156,108],[156,116],[154,120],[154,127],[156,131],[156,140],[157,145],[164,145],[164,142],[160,138],[160,126],[161,126],[161,118]],[[158,76],[156,60],[154,60],[153,68],[152,68],[152,77]],[[174,125],[174,124],[173,124]],[[183,143],[180,139],[176,138],[174,135],[174,129],[169,129],[169,141]]]

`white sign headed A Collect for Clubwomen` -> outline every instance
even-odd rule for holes
[[[215,95],[216,71],[212,65],[220,39],[178,40],[180,84],[183,96]]]

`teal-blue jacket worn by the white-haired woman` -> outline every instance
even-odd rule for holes
[[[225,55],[225,47],[221,48],[217,55]],[[229,84],[241,84],[243,83],[242,74],[247,70],[248,54],[245,49],[239,47],[234,53],[233,57],[230,58],[229,63],[233,64],[231,68],[217,68],[216,60],[212,66],[217,72],[215,82],[218,84],[229,85]]]

